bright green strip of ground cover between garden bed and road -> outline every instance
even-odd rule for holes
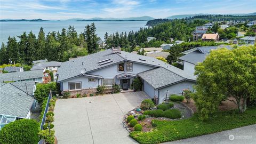
[[[222,111],[205,122],[199,121],[197,114],[178,121],[153,121],[156,125],[154,131],[134,131],[130,136],[139,143],[161,143],[235,129],[256,124],[256,107],[248,108],[244,114],[239,114],[237,110]]]

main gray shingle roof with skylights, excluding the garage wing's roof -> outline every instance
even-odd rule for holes
[[[188,79],[194,79],[194,80],[196,79],[194,75],[187,74],[185,71],[177,67],[171,66],[168,63],[165,63],[156,58],[147,57],[144,55],[139,55],[139,54],[134,54],[129,52],[123,52],[123,51],[121,51],[121,53],[115,53],[115,54],[112,54],[111,52],[112,52],[111,49],[109,49],[106,51],[90,54],[82,58],[77,58],[70,61],[62,62],[61,67],[57,71],[57,75],[58,75],[57,82],[61,82],[68,78],[82,75],[81,70],[85,71],[85,73],[89,73],[90,71],[125,61],[125,59],[127,61],[144,63],[145,65],[151,65],[155,67],[164,67],[182,77],[186,77]],[[112,62],[106,63],[105,65],[101,65],[101,66],[99,65],[98,61],[107,60],[107,59],[110,59]]]

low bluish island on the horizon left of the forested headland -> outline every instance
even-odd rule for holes
[[[84,19],[84,20],[77,20],[77,21],[148,21],[148,20],[154,20],[154,18],[149,16],[131,17],[131,18],[91,18],[91,19]]]

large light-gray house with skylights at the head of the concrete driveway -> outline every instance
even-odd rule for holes
[[[164,82],[170,88],[171,93],[182,93],[183,89],[192,87],[195,84],[196,77],[193,74],[187,74],[185,71],[169,65],[161,60],[146,57],[119,49],[108,49],[106,51],[97,52],[86,55],[85,57],[62,62],[61,67],[57,71],[57,83],[60,84],[61,91],[70,91],[71,94],[76,93],[94,93],[98,86],[104,85],[111,88],[113,84],[117,84],[122,90],[132,89],[133,79],[141,76],[143,79],[143,91],[151,98],[158,99],[158,103],[162,103],[163,99],[158,93],[152,94],[151,91],[159,90],[164,87],[148,87],[147,83],[150,78],[144,75],[137,75],[145,71],[162,68],[166,73],[170,73],[171,79],[179,79],[179,81]],[[155,70],[154,70],[155,71]],[[156,70],[158,71],[158,70]],[[155,72],[154,72],[155,73]],[[164,77],[166,73],[157,73],[160,77]],[[155,83],[163,83],[163,79],[155,79]],[[172,87],[172,84],[181,84],[179,89]],[[177,85],[175,85],[177,86]],[[109,89],[108,89],[109,90]]]

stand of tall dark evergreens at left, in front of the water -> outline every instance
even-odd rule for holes
[[[0,49],[0,65],[7,63],[26,63],[31,65],[32,61],[47,59],[49,61],[67,61],[98,51],[100,38],[95,34],[94,23],[87,25],[84,33],[77,34],[74,26],[63,28],[57,33],[52,31],[45,35],[43,28],[39,30],[38,36],[30,31],[24,32],[19,37],[9,37],[7,45],[2,43]]]

